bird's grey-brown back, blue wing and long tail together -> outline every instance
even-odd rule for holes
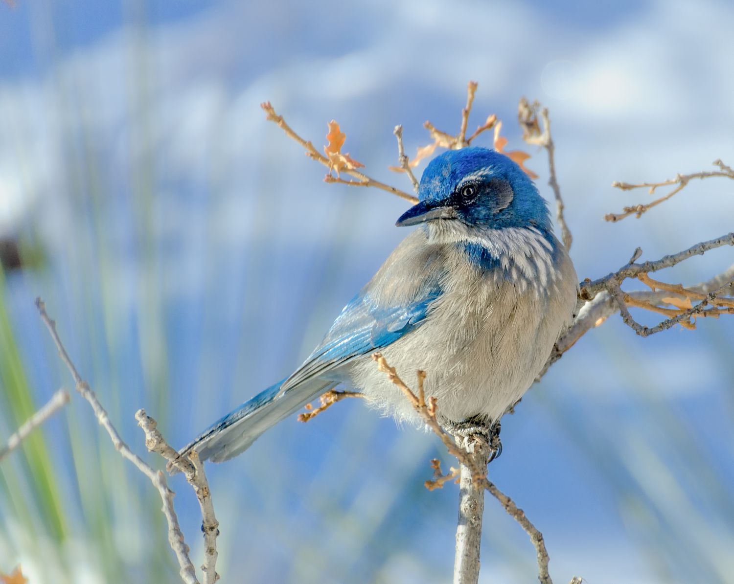
[[[420,326],[443,293],[444,274],[443,258],[426,246],[423,231],[411,233],[344,307],[303,365],[222,417],[181,453],[195,449],[201,459],[219,462],[246,450],[268,428],[335,387],[342,365]]]

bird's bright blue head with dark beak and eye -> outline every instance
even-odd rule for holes
[[[421,177],[417,205],[396,225],[437,219],[469,227],[537,227],[551,230],[545,200],[515,162],[487,148],[448,150],[436,156]]]

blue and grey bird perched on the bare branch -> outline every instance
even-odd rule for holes
[[[528,390],[570,326],[578,278],[553,236],[545,200],[512,160],[480,147],[426,167],[419,202],[396,225],[418,226],[338,315],[308,359],[182,450],[225,461],[338,384],[397,420],[420,423],[377,370],[427,373],[446,426],[493,426]]]

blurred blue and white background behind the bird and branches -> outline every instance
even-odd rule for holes
[[[515,123],[517,99],[539,99],[581,278],[730,232],[721,179],[602,218],[648,197],[612,180],[734,163],[733,21],[725,1],[0,3],[0,443],[73,388],[36,296],[162,467],[139,407],[184,445],[290,373],[405,236],[404,201],[323,183],[261,101],[317,147],[335,118],[369,175],[408,190],[387,169],[393,126],[410,155],[424,120],[456,132],[474,79],[469,130],[498,114],[552,200]],[[658,275],[699,282],[733,261],[718,249]],[[610,318],[504,418],[490,478],[542,530],[557,582],[734,582],[733,325],[642,339]],[[448,581],[458,492],[424,489],[434,456],[451,464],[435,437],[346,401],[209,465],[222,582]],[[195,496],[170,483],[199,565]],[[75,395],[0,464],[0,572],[178,582],[160,507]],[[534,558],[487,499],[481,581],[533,582]]]

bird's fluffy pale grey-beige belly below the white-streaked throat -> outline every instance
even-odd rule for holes
[[[438,411],[449,420],[475,415],[498,420],[530,387],[570,321],[575,281],[521,291],[505,280],[459,277],[461,285],[436,301],[430,318],[382,354],[410,387],[415,388],[415,372],[426,371],[426,395],[435,395]],[[369,356],[357,360],[349,373],[371,404],[399,420],[417,421]]]

